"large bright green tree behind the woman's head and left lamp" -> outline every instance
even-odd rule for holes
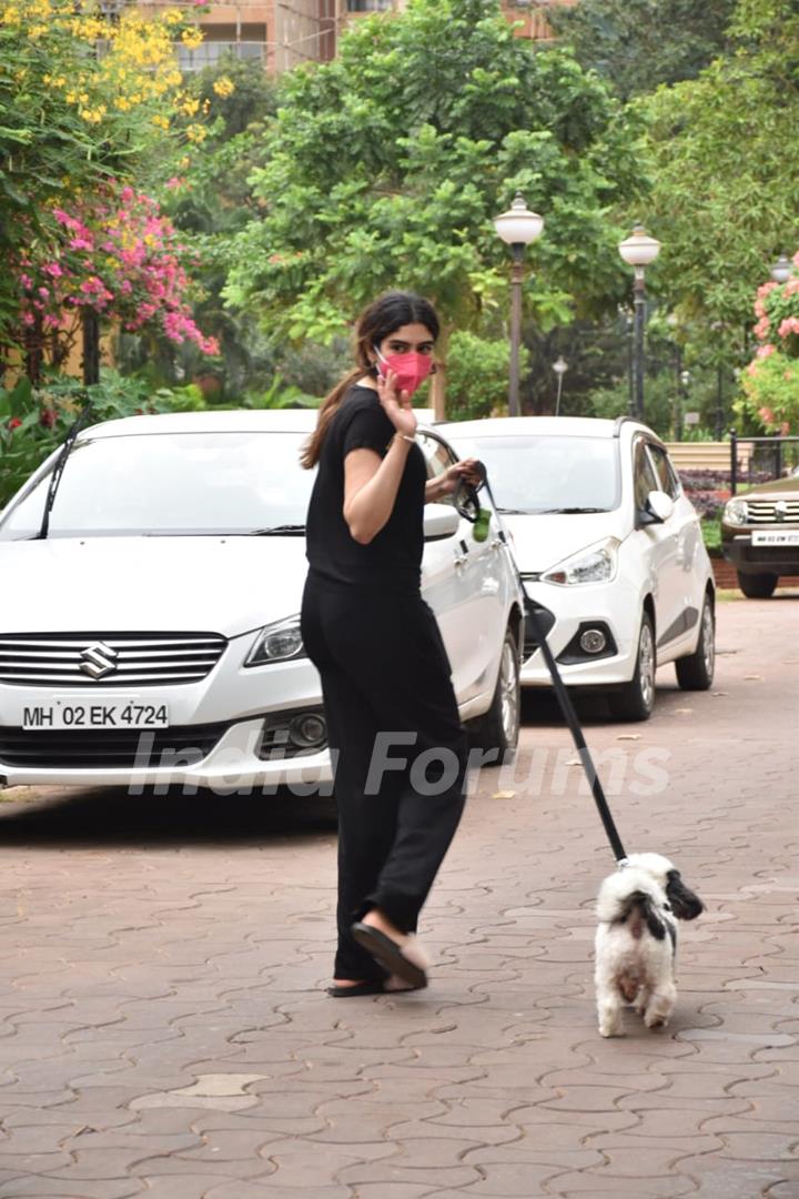
[[[283,78],[262,153],[226,296],[276,337],[328,341],[392,285],[429,295],[447,330],[496,336],[509,264],[491,218],[516,188],[546,218],[526,284],[539,323],[624,287],[609,210],[635,192],[635,127],[570,52],[515,37],[497,0],[358,22],[334,62]]]

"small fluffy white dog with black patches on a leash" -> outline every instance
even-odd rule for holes
[[[648,1029],[664,1028],[674,1007],[677,921],[704,904],[660,854],[631,854],[599,888],[595,940],[597,1014],[604,1037],[624,1036],[632,1004]]]

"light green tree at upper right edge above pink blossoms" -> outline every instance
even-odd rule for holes
[[[799,11],[742,0],[733,49],[643,102],[662,242],[658,287],[695,337],[745,361],[751,295],[794,242],[799,210]]]

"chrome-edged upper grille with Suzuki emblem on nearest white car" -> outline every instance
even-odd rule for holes
[[[0,682],[25,687],[198,682],[226,644],[219,633],[7,633],[0,635]]]

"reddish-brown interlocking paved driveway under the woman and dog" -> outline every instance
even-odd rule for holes
[[[404,998],[320,989],[311,808],[5,793],[0,1199],[797,1199],[798,633],[797,592],[721,604],[713,693],[666,668],[648,724],[586,710],[628,850],[708,904],[661,1034],[597,1034],[613,863],[546,699],[479,779]]]

